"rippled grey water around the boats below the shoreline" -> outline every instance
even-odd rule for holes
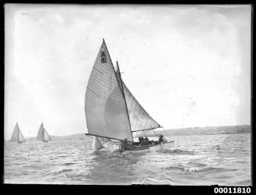
[[[251,134],[169,140],[171,150],[142,154],[121,154],[110,144],[93,153],[85,140],[7,143],[5,183],[251,185]]]

